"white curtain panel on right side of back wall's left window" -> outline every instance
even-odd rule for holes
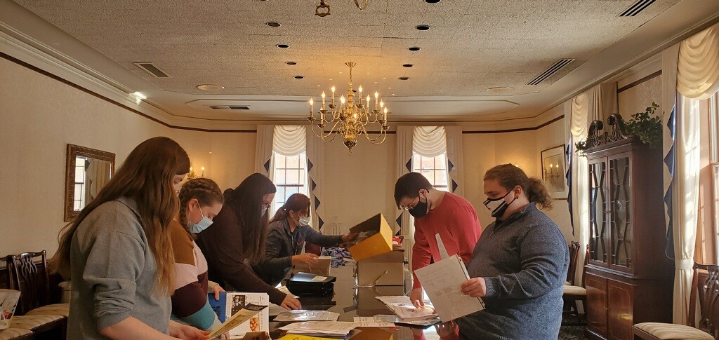
[[[306,147],[307,147],[307,183],[310,197],[310,212],[312,217],[312,227],[316,230],[322,230],[324,227],[324,174],[325,174],[325,154],[324,139],[319,138],[312,133],[311,129],[305,129]]]

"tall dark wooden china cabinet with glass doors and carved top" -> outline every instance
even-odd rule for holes
[[[661,148],[628,136],[620,115],[587,138],[590,258],[587,335],[632,339],[640,322],[672,322],[674,264],[664,255]]]

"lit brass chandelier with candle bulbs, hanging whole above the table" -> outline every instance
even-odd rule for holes
[[[352,67],[354,62],[345,62],[344,65],[349,67],[349,90],[347,90],[347,99],[342,95],[339,98],[339,105],[334,104],[334,91],[332,86],[332,97],[329,105],[326,105],[326,94],[322,92],[322,105],[319,110],[319,117],[314,114],[314,100],[310,99],[310,115],[307,120],[310,122],[310,128],[315,136],[322,138],[326,142],[333,141],[336,135],[341,135],[344,146],[349,149],[349,155],[352,156],[352,148],[357,145],[357,139],[362,134],[365,135],[370,143],[381,144],[387,138],[387,115],[390,113],[385,102],[380,100],[380,94],[375,92],[375,108],[370,110],[370,95],[367,95],[367,103],[362,103],[362,85],[359,85],[359,100],[354,101],[354,90],[352,89]],[[327,110],[329,106],[329,110]],[[376,138],[370,138],[367,133],[367,126],[377,124],[380,128]],[[325,133],[325,126],[329,126],[329,131]],[[319,133],[315,131],[315,127],[319,129]]]

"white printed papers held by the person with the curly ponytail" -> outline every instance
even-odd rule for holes
[[[482,299],[462,293],[462,283],[470,279],[458,255],[419,268],[414,274],[422,283],[442,322],[466,316],[485,308]]]

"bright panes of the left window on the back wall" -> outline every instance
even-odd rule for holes
[[[288,197],[292,194],[300,193],[309,196],[307,186],[307,156],[302,151],[295,156],[284,156],[275,152],[275,171],[273,173],[273,181],[277,186],[277,194],[275,194],[275,202],[273,202],[273,212],[280,209]]]

